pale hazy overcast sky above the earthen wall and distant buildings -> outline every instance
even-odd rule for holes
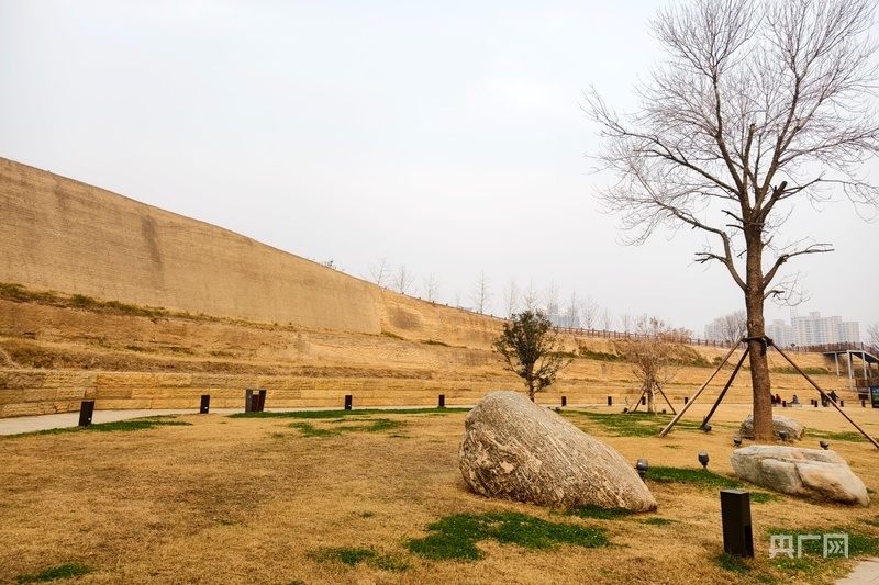
[[[511,279],[553,282],[701,334],[741,291],[692,262],[697,233],[619,243],[580,110],[590,85],[635,104],[664,4],[0,0],[0,156],[355,277],[386,257],[449,304],[472,305],[485,271],[494,314]],[[836,249],[791,262],[798,311],[864,333],[879,224],[846,201],[794,217],[788,237]]]

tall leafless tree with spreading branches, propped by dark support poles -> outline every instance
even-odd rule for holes
[[[600,191],[631,241],[660,226],[702,230],[699,262],[720,262],[747,312],[754,431],[772,439],[764,303],[788,291],[789,260],[832,251],[781,234],[794,205],[879,205],[861,176],[879,154],[871,102],[876,49],[867,34],[875,0],[693,0],[652,22],[667,58],[638,88],[641,109],[617,115],[592,90],[600,167],[620,182]],[[771,256],[770,256],[771,255]],[[765,256],[770,256],[766,258]]]

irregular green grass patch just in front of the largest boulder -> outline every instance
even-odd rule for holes
[[[429,525],[427,530],[433,533],[410,540],[408,548],[435,561],[477,561],[485,553],[476,543],[488,539],[528,550],[546,550],[560,543],[585,548],[610,544],[603,529],[554,524],[516,513],[447,516]]]

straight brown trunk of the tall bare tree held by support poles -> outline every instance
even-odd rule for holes
[[[745,235],[750,239],[747,251],[745,310],[748,322],[748,357],[750,359],[750,383],[754,389],[754,440],[772,441],[772,387],[769,382],[768,348],[764,345],[766,337],[763,316],[765,290],[763,283],[763,241],[760,233]],[[759,339],[755,339],[759,338]]]

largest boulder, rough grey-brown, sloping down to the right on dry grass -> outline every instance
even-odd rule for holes
[[[615,449],[522,394],[489,394],[464,426],[460,471],[478,494],[559,508],[656,509],[650,491]]]

